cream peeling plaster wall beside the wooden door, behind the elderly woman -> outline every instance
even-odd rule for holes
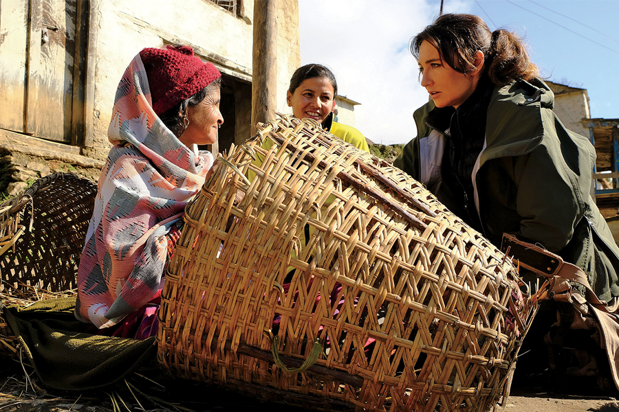
[[[227,124],[235,124],[233,139],[239,144],[250,137],[252,0],[243,0],[241,16],[209,0],[91,0],[81,4],[89,5],[87,12],[80,15],[84,19],[80,27],[88,30],[82,40],[86,55],[83,56],[85,71],[81,76],[85,78],[85,84],[80,83],[85,97],[73,101],[84,104],[84,131],[73,136],[72,141],[77,146],[67,144],[67,139],[57,143],[43,133],[34,136],[21,133],[23,124],[12,125],[12,117],[5,113],[3,119],[11,127],[0,130],[0,193],[17,194],[23,190],[26,181],[54,171],[76,171],[96,179],[110,147],[107,128],[118,81],[131,59],[144,47],[177,43],[191,45],[201,58],[213,62],[228,76],[228,89],[233,89],[228,95],[234,99],[234,115],[225,119]],[[277,7],[276,107],[285,110],[290,76],[301,63],[298,0],[278,0]],[[7,19],[18,23],[23,20],[23,33],[15,34],[19,37],[17,43],[21,44],[27,33],[27,10],[21,7],[16,10],[21,14],[13,13],[13,8],[6,6],[1,17],[3,22]],[[19,56],[17,60],[23,60],[23,56]],[[19,67],[21,71],[25,70],[23,65]],[[3,78],[3,87],[8,90],[12,90],[10,87],[17,82],[11,73]],[[23,83],[24,79],[20,79]],[[24,85],[18,86],[23,94]],[[66,88],[58,93],[65,98]],[[53,97],[58,97],[58,93]],[[70,115],[66,107],[57,110]],[[77,113],[80,108],[74,107],[73,110]]]

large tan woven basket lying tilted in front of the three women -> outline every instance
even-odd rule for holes
[[[311,408],[497,404],[535,306],[512,262],[420,183],[316,122],[258,129],[186,209],[160,363]]]

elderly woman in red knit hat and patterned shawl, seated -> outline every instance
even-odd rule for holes
[[[220,82],[221,73],[191,47],[143,49],[127,67],[78,270],[77,319],[102,329],[149,317],[152,328],[142,336],[122,336],[156,332],[157,306],[144,312],[145,305],[160,294],[185,205],[213,165],[197,145],[215,143],[224,122]]]

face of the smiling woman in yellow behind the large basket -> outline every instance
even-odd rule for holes
[[[323,124],[325,117],[331,113],[334,104],[334,89],[330,80],[325,78],[305,79],[294,90],[287,92],[286,102],[292,107],[294,117],[317,120]]]

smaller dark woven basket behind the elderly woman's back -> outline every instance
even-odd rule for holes
[[[88,179],[52,173],[0,205],[0,292],[76,287],[96,193]]]

